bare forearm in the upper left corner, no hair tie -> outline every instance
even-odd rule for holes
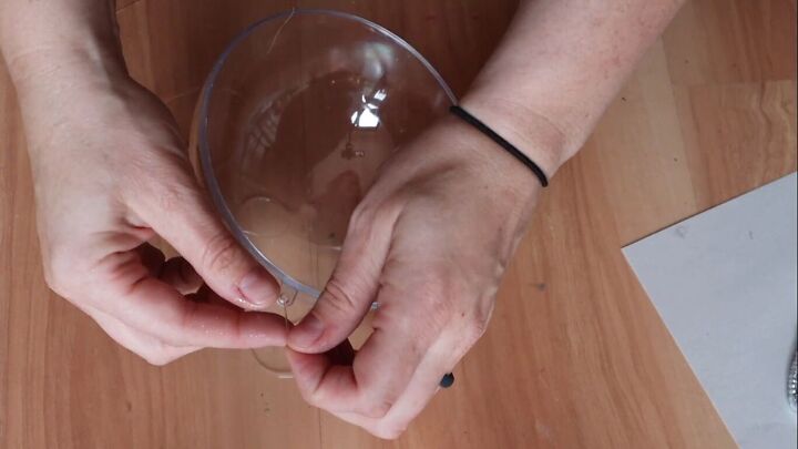
[[[114,0],[3,0],[0,50],[18,84],[62,68],[124,72]]]

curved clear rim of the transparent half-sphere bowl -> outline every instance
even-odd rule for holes
[[[424,69],[434,78],[434,80],[438,82],[438,84],[441,86],[446,95],[449,98],[449,100],[452,102],[452,104],[457,104],[457,98],[454,96],[454,93],[449,88],[449,84],[443,80],[443,78],[440,75],[440,73],[432,67],[432,64],[427,61],[427,59],[421,55],[421,53],[416,50],[410,43],[408,43],[405,39],[400,38],[398,34],[393,33],[392,31],[388,30],[387,28],[375,23],[368,19],[364,19],[359,16],[355,16],[348,12],[342,11],[336,11],[330,9],[300,9],[300,8],[293,8],[290,10],[286,10],[283,12],[278,12],[276,14],[268,16],[266,18],[263,18],[260,20],[257,20],[249,24],[247,28],[245,28],[242,32],[239,32],[225,48],[225,50],[222,52],[222,54],[216,59],[214,62],[213,69],[211,70],[211,73],[207,76],[207,80],[205,81],[205,85],[203,86],[202,93],[201,93],[201,102],[200,102],[200,115],[198,115],[198,146],[200,146],[200,167],[202,171],[203,180],[205,181],[205,185],[207,186],[207,190],[211,194],[211,197],[213,200],[214,206],[218,211],[219,214],[222,214],[222,218],[225,222],[225,225],[229,229],[231,233],[233,233],[233,236],[235,239],[244,246],[244,248],[253,256],[255,259],[258,261],[258,263],[266,267],[266,269],[269,271],[274,276],[277,277],[277,280],[279,280],[283,285],[286,285],[290,288],[293,288],[296,292],[304,293],[314,299],[318,299],[320,292],[317,290],[314,287],[310,287],[296,278],[294,278],[291,275],[283,271],[279,266],[277,266],[272,259],[269,259],[255,244],[252,242],[252,239],[246,235],[246,233],[242,229],[241,225],[238,224],[238,221],[233,215],[233,211],[231,211],[229,206],[227,205],[227,202],[224,198],[224,195],[222,194],[222,188],[219,187],[218,180],[216,180],[216,175],[213,170],[213,161],[211,157],[211,145],[208,144],[208,110],[211,105],[211,96],[214,92],[214,85],[216,83],[216,80],[222,72],[222,70],[225,67],[225,62],[227,61],[227,58],[233,53],[233,51],[246,39],[248,38],[255,30],[257,30],[259,27],[274,22],[276,20],[290,18],[294,16],[329,16],[335,17],[338,19],[345,19],[345,20],[351,20],[355,22],[358,22],[360,24],[364,24],[366,27],[371,28],[372,30],[377,31],[381,35],[388,38],[389,40],[393,41],[395,43],[399,44],[399,47],[403,48],[407,52],[409,52],[413,58],[416,58],[417,61],[423,65]]]

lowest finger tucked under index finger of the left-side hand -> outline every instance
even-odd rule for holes
[[[141,333],[120,319],[98,309],[88,309],[86,313],[94,322],[116,343],[139,355],[152,365],[166,365],[185,355],[200,350],[196,346],[172,346],[160,339]]]

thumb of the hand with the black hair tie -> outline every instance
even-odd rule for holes
[[[288,334],[288,345],[303,353],[324,353],[357,328],[379,288],[395,217],[355,214],[336,268],[310,313]]]

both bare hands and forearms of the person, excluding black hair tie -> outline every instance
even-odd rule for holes
[[[461,105],[553,176],[679,4],[524,2]],[[286,331],[245,312],[277,284],[213,214],[165,106],[127,76],[113,18],[108,0],[0,3],[49,285],[153,364],[285,345],[306,400],[398,437],[488,326],[536,178],[461,121],[431,126],[381,167],[332,279]],[[156,235],[182,257],[164,261]],[[355,353],[347,337],[374,300]]]

